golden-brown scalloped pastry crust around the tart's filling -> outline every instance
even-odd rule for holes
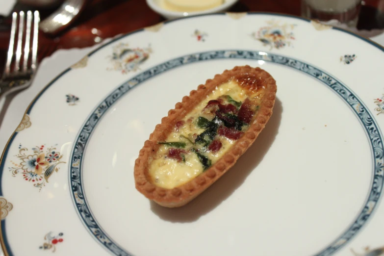
[[[156,154],[159,147],[157,142],[164,141],[172,132],[176,123],[194,109],[201,102],[201,99],[205,99],[208,94],[215,90],[216,86],[233,78],[245,81],[253,79],[253,81],[256,80],[256,83],[263,83],[262,85],[265,87],[260,108],[253,117],[248,130],[233,144],[226,154],[196,178],[173,189],[154,185],[151,182],[152,178],[149,175],[148,168],[149,160]],[[192,90],[189,96],[184,96],[182,102],[176,103],[175,109],[168,111],[168,116],[161,119],[161,124],[156,125],[149,140],[144,143],[144,147],[140,150],[134,166],[136,189],[148,199],[165,207],[179,207],[189,203],[223,176],[254,143],[272,115],[276,91],[276,81],[270,74],[260,68],[250,66],[234,67],[232,70],[224,71],[221,75],[216,75],[213,79],[206,80],[205,84],[199,85],[197,90]]]

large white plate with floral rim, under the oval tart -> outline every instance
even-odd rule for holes
[[[154,126],[205,79],[245,64],[278,84],[260,137],[190,204],[151,204],[134,188],[133,165]],[[383,65],[383,48],[366,39],[276,14],[191,17],[112,40],[47,85],[10,138],[2,248],[383,254]]]

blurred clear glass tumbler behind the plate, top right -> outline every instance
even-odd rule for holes
[[[356,27],[361,0],[302,0],[303,17],[322,22],[337,20]]]

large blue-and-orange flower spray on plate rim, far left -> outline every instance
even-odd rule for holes
[[[14,167],[9,167],[13,177],[22,175],[23,179],[32,182],[33,186],[39,188],[39,191],[48,183],[48,179],[54,172],[58,172],[63,157],[56,148],[45,148],[44,145],[34,147],[31,151],[19,146],[19,154],[16,155],[18,161],[12,161]],[[19,176],[20,176],[19,175]]]

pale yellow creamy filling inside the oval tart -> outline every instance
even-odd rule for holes
[[[149,174],[154,184],[171,189],[188,182],[203,173],[210,165],[215,164],[236,142],[235,139],[216,134],[214,140],[217,142],[215,143],[221,143],[218,151],[209,150],[207,143],[196,143],[196,136],[206,130],[201,127],[201,123],[199,123],[199,127],[199,117],[204,117],[203,121],[214,121],[212,119],[215,117],[215,113],[205,110],[205,106],[209,101],[222,97],[227,99],[226,103],[237,103],[238,107],[240,107],[241,102],[249,98],[254,104],[255,102],[259,104],[262,92],[263,90],[245,90],[239,86],[236,80],[231,80],[216,87],[212,93],[178,123],[178,128],[175,128],[166,139],[166,142],[169,143],[159,146],[149,166]],[[246,131],[248,127],[247,124],[243,125],[241,131]],[[209,140],[208,137],[204,138]],[[209,143],[212,144],[211,141]],[[171,152],[174,157],[170,157]]]

